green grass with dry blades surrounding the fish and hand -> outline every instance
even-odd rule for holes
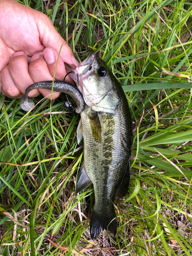
[[[81,59],[98,52],[121,82],[134,124],[132,175],[115,201],[116,237],[102,232],[92,241],[93,188],[74,193],[79,116],[62,95],[27,114],[19,100],[0,96],[0,160],[8,163],[0,168],[0,254],[191,255],[192,4],[23,4],[46,13]]]

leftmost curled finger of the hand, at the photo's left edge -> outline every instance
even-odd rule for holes
[[[23,97],[22,93],[20,93],[18,88],[15,86],[8,66],[6,66],[1,72],[0,93],[8,96],[9,98],[19,99]]]

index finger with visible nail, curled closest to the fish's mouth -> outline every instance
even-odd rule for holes
[[[54,76],[54,73],[55,73],[55,79],[63,81],[67,72],[66,72],[64,62],[60,58],[60,56],[58,58],[57,52],[54,49],[45,48],[45,50],[44,50],[44,59],[47,62],[47,66],[48,66],[48,69],[50,71],[50,74],[52,76]],[[58,62],[57,62],[57,59],[58,59]],[[56,67],[56,72],[55,72],[55,67]],[[74,81],[69,76],[67,76],[65,80],[67,82],[74,83]]]

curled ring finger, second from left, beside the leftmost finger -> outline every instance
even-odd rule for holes
[[[25,95],[27,87],[33,83],[29,74],[27,55],[22,51],[14,53],[10,58],[8,68],[16,88],[22,95]],[[39,91],[35,89],[30,92],[29,97],[36,97],[37,95],[39,95]]]

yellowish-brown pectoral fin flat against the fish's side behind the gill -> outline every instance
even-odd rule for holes
[[[101,142],[101,123],[96,112],[89,114],[91,133],[95,141]]]

